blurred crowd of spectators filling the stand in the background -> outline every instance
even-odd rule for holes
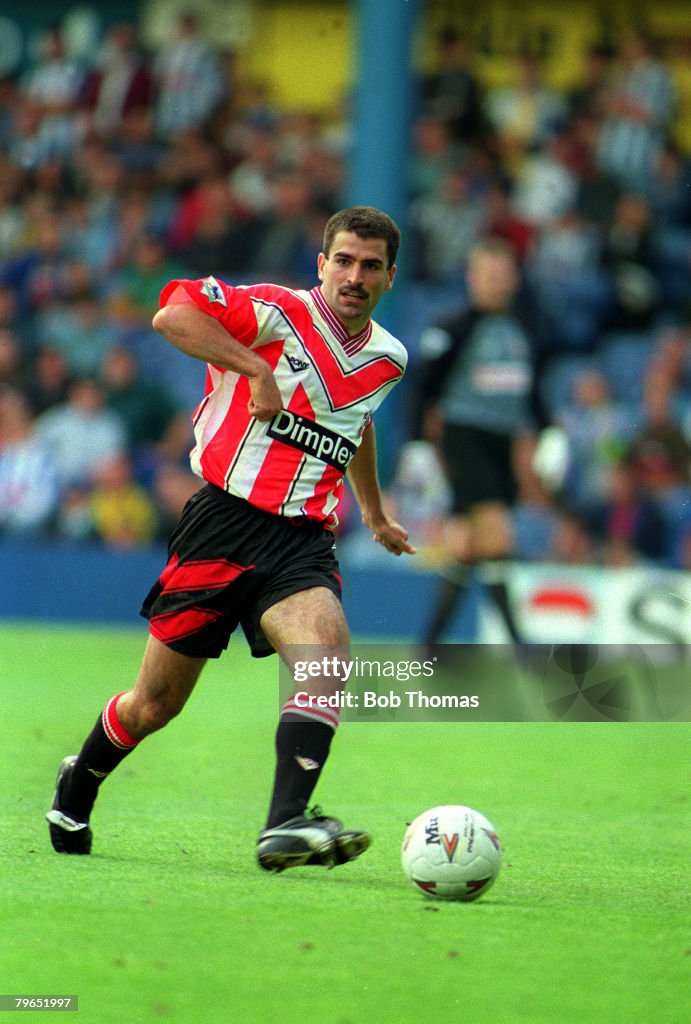
[[[193,486],[189,427],[177,414],[196,400],[201,377],[150,329],[158,289],[167,276],[205,270],[235,283],[270,272],[290,286],[311,285],[321,227],[343,205],[352,131],[346,103],[331,119],[280,109],[265,90],[236,80],[228,54],[193,18],[182,18],[158,52],[132,25],[112,26],[99,43],[89,59],[76,60],[53,25],[20,73],[1,83],[0,389],[24,396],[29,434],[49,441],[43,418],[54,418],[84,375],[105,387],[110,414],[122,417],[106,368],[112,352],[129,353],[128,386],[143,394],[163,385],[168,393],[169,428],[144,443],[129,436],[125,451],[132,485],[147,490],[167,524],[174,508],[165,481],[176,481],[180,501]],[[545,323],[541,394],[551,422],[568,431],[574,385],[595,369],[644,431],[653,375],[670,392],[670,416],[688,450],[690,154],[674,117],[674,53],[651,55],[649,46],[627,33],[615,52],[593,47],[582,83],[570,91],[546,85],[539,61],[524,54],[515,82],[499,87],[483,82],[471,40],[440,34],[435,68],[418,78],[409,222],[401,225],[412,240],[403,337],[414,370],[422,330],[463,300],[472,242],[510,238]],[[198,105],[173,95],[180,61],[202,69]],[[639,132],[645,152],[635,162],[624,94],[649,112]],[[516,122],[526,97],[534,105],[530,130]],[[450,265],[435,257],[449,225],[459,234]],[[660,382],[655,368],[670,360],[671,329],[678,355]],[[411,395],[413,374],[406,388]],[[406,439],[415,439],[414,423]],[[0,433],[0,477],[16,461],[13,443]],[[79,515],[95,515],[102,469],[79,481]],[[637,477],[635,486],[668,529],[660,562],[688,564],[688,453],[674,485],[651,494]],[[572,498],[525,496],[520,529],[533,554],[562,514],[555,499]],[[45,540],[74,532],[75,501],[66,488],[40,524]],[[9,529],[0,520],[0,539]],[[145,546],[161,532],[133,531],[119,543]],[[92,543],[94,534],[84,531]],[[599,557],[597,544],[591,557]]]

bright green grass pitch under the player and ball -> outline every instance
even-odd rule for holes
[[[0,628],[2,992],[78,994],[81,1024],[686,1024],[687,725],[346,725],[318,799],[372,849],[267,876],[275,660],[233,641],[105,783],[94,854],[58,857],[56,766],[142,646]],[[406,820],[441,803],[504,841],[477,903],[428,902],[401,873]]]

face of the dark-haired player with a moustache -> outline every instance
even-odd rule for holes
[[[372,311],[393,285],[384,239],[360,239],[339,231],[328,256],[317,260],[321,294],[351,334],[361,331]]]

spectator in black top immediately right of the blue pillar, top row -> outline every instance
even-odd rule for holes
[[[470,49],[454,28],[437,37],[436,70],[420,83],[422,109],[443,121],[452,138],[475,138],[482,124],[480,89],[470,66]]]

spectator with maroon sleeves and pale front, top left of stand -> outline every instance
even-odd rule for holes
[[[149,105],[154,83],[137,53],[131,25],[115,25],[110,30],[97,67],[87,74],[80,98],[89,114],[88,127],[106,139],[120,135],[133,111]]]

